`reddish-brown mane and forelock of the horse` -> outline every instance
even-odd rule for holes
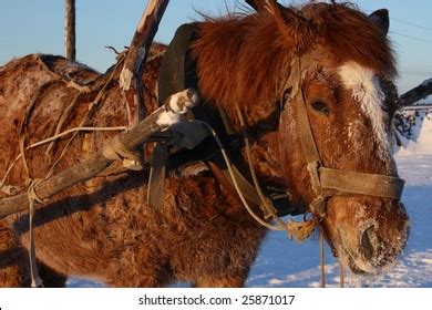
[[[232,115],[234,111],[229,110],[238,103],[258,118],[268,116],[277,92],[281,91],[280,83],[289,75],[289,64],[298,48],[295,40],[299,38],[306,48],[301,45],[297,54],[320,44],[338,63],[356,61],[380,75],[395,75],[389,40],[354,6],[310,3],[287,10],[308,20],[313,31],[300,33],[298,22],[286,21],[282,33],[280,21],[270,13],[230,13],[198,23],[199,38],[192,46],[192,56],[197,64],[202,95],[222,104]],[[258,102],[261,104],[253,104]]]

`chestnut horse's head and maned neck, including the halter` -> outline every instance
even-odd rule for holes
[[[266,1],[257,14],[207,20],[193,46],[202,95],[239,128],[237,105],[256,128],[261,180],[287,186],[356,272],[394,261],[409,231],[389,134],[397,71],[388,29],[387,10]]]

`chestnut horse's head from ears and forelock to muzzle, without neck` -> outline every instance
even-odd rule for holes
[[[379,190],[385,177],[374,185],[377,192],[356,193],[371,182],[370,175],[400,183],[391,151],[395,101],[387,85],[395,70],[387,11],[367,17],[338,4],[309,4],[302,11],[270,8],[287,44],[296,49],[282,87],[286,103],[279,124],[287,183],[307,204],[320,194],[313,188],[306,154],[310,151],[305,149],[310,146],[305,146],[299,124],[305,105],[319,165],[336,172],[330,178],[340,172],[359,173],[339,180],[346,183],[336,186],[343,195],[325,195],[321,229],[343,265],[354,272],[377,273],[401,252],[409,230],[400,196]],[[296,104],[298,100],[302,103]],[[320,172],[318,182],[325,183]]]

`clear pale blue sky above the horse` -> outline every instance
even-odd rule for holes
[[[218,16],[241,0],[171,0],[156,39],[169,42],[175,29],[198,19],[195,10]],[[302,3],[286,1],[281,3]],[[388,8],[390,37],[399,56],[400,92],[432,78],[432,1],[352,0],[366,12]],[[78,60],[104,71],[128,45],[145,0],[76,0]],[[63,0],[0,0],[0,65],[34,52],[63,53]]]

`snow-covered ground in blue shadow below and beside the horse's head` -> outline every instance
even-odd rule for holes
[[[421,120],[421,117],[423,117]],[[347,287],[432,287],[432,117],[419,114],[415,141],[395,158],[407,180],[402,202],[411,221],[407,248],[395,266],[379,277],[346,272]],[[247,287],[318,287],[320,282],[319,242],[288,240],[286,234],[270,232],[253,267]],[[326,282],[339,286],[339,266],[326,249]],[[99,287],[100,283],[71,278],[69,287]]]

